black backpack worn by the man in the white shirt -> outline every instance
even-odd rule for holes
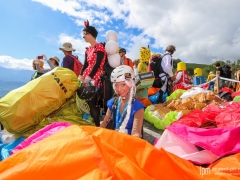
[[[167,55],[168,53],[165,53],[162,57],[161,56],[153,56],[150,59],[150,68],[154,73],[155,78],[159,78],[160,73],[165,73],[163,68],[162,68],[162,58]]]

